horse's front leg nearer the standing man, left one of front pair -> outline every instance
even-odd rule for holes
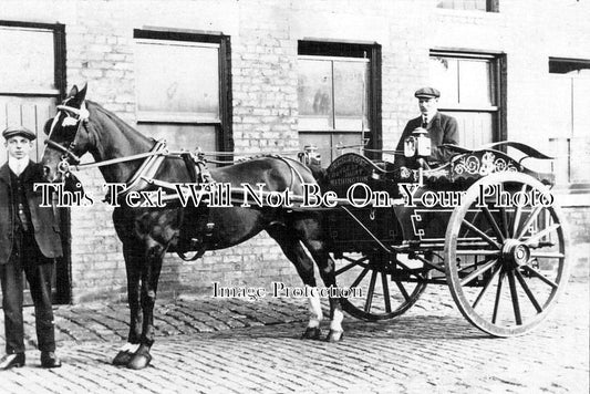
[[[130,245],[123,245],[125,269],[127,271],[127,303],[130,305],[130,333],[127,343],[113,359],[114,365],[126,365],[139,345],[142,335],[142,310],[139,309],[139,278],[142,273],[142,253]]]

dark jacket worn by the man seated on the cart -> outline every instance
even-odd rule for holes
[[[404,132],[402,133],[402,137],[400,138],[400,143],[397,144],[397,147],[395,148],[395,151],[398,152],[395,155],[395,168],[407,165],[406,163],[407,158],[404,157],[403,155],[404,141],[406,137],[412,135],[412,132],[416,127],[420,127],[421,125],[422,125],[422,116],[418,116],[407,122],[404,128]],[[427,159],[428,163],[448,162],[448,159],[451,159],[451,156],[453,156],[453,154],[448,152],[448,149],[441,147],[441,145],[443,144],[458,145],[459,133],[458,133],[457,120],[455,120],[453,116],[448,116],[439,112],[436,112],[436,115],[434,115],[431,122],[428,122],[426,129],[428,131],[428,137],[431,138],[431,144],[432,144],[431,157]]]

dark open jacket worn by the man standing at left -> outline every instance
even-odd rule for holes
[[[55,258],[62,256],[62,245],[60,240],[60,229],[53,208],[42,208],[41,189],[33,191],[34,183],[42,183],[42,166],[29,162],[22,173],[24,193],[31,211],[31,222],[34,228],[34,238],[43,256]],[[12,240],[14,238],[17,212],[12,206],[12,186],[10,183],[10,168],[8,163],[0,167],[0,265],[8,262],[12,252]]]

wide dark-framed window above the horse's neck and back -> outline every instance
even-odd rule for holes
[[[229,38],[135,30],[137,127],[172,148],[231,149]]]

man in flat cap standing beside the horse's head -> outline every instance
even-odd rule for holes
[[[23,272],[34,303],[41,366],[61,365],[55,356],[51,277],[53,259],[62,256],[52,207],[40,207],[34,183],[43,182],[42,166],[29,158],[34,133],[25,127],[3,131],[8,162],[0,167],[0,281],[7,354],[0,370],[24,365],[22,320]]]

